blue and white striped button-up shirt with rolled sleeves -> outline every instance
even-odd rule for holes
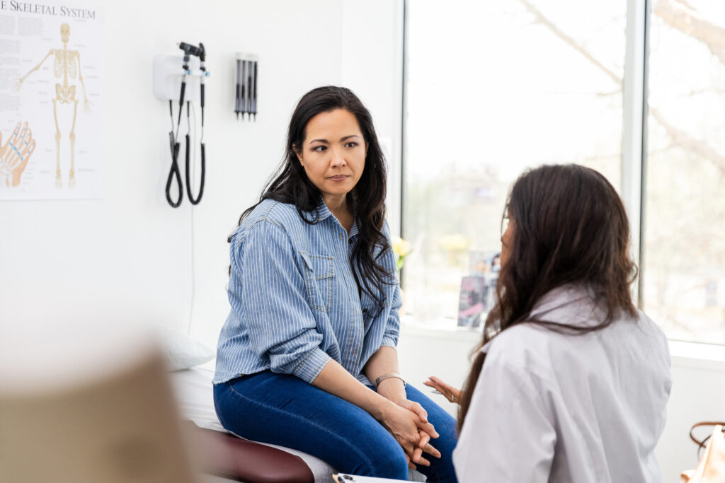
[[[325,203],[315,214],[309,224],[294,205],[265,200],[234,232],[215,384],[267,369],[312,382],[331,358],[369,384],[361,371],[370,356],[397,345],[397,283],[383,285],[380,309],[360,296],[351,264],[357,222],[348,234]],[[387,224],[384,231],[389,238]],[[392,251],[378,263],[394,273]]]

